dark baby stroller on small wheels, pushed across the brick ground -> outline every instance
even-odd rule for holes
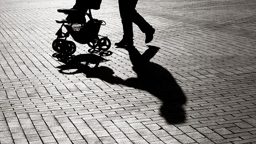
[[[107,36],[101,36],[99,38],[100,35],[98,35],[100,26],[106,25],[106,22],[93,19],[91,13],[91,9],[100,9],[101,0],[95,0],[97,6],[90,4],[91,6],[83,9],[81,9],[81,4],[78,4],[77,1],[72,9],[57,10],[57,12],[65,13],[68,16],[65,20],[56,20],[57,23],[62,23],[62,25],[56,33],[57,38],[52,42],[53,50],[62,57],[74,54],[76,52],[76,44],[67,40],[67,37],[71,35],[77,43],[88,44],[91,47],[88,52],[98,53],[100,56],[111,55],[112,52],[108,51],[111,46],[110,40]],[[88,10],[89,13],[87,13]],[[86,21],[86,15],[89,17],[88,21]],[[63,26],[67,29],[66,33],[62,32]]]

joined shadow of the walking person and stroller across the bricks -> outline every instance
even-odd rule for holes
[[[184,105],[186,101],[185,96],[167,69],[149,61],[154,57],[159,48],[150,45],[148,47],[149,49],[143,54],[140,54],[133,46],[123,47],[129,52],[130,60],[133,65],[132,68],[138,76],[136,78],[123,80],[120,77],[113,76],[113,70],[104,66],[90,68],[86,64],[79,62],[84,61],[82,60],[82,56],[79,59],[76,58],[75,61],[69,61],[69,64],[66,63],[66,65],[60,66],[60,72],[77,68],[76,73],[82,72],[86,74],[88,78],[99,78],[110,84],[123,84],[136,89],[146,90],[163,101],[161,115],[164,116],[170,124],[182,123],[185,120],[185,113],[182,108],[182,105]]]

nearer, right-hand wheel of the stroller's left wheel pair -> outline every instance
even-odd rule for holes
[[[72,41],[66,41],[61,44],[60,53],[70,56],[76,52],[76,44]]]

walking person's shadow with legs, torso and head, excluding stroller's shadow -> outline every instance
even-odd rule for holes
[[[124,84],[146,90],[162,100],[161,115],[169,123],[183,122],[185,113],[182,105],[186,101],[185,95],[167,69],[149,61],[159,48],[148,45],[148,49],[143,54],[140,54],[134,46],[124,48],[129,52],[132,68],[138,76],[126,79]]]

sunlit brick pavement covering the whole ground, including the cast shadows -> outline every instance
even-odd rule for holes
[[[112,46],[97,70],[52,57],[74,3],[1,0],[1,144],[256,143],[254,0],[140,0],[160,50],[138,67],[152,51],[135,26],[136,49]],[[121,39],[117,1],[92,14]]]

